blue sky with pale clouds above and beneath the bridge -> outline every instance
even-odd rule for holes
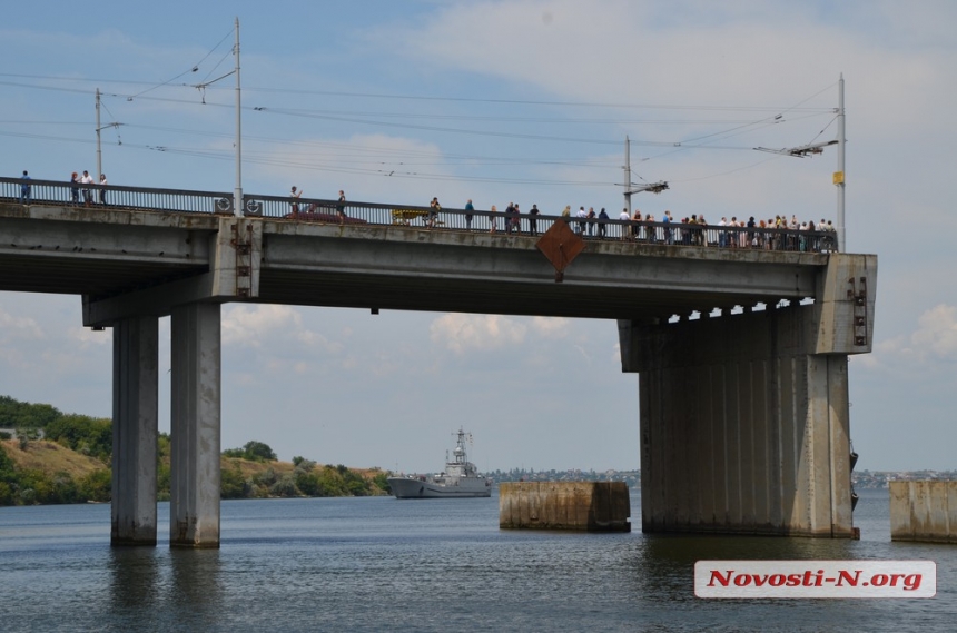
[[[957,468],[957,3],[226,4],[7,7],[0,174],[93,174],[99,89],[109,182],[231,191],[238,18],[246,194],[620,210],[628,138],[632,182],[670,186],[643,212],[836,220],[833,147],[754,148],[836,139],[842,76],[847,250],[879,258],[857,467]],[[111,347],[78,296],[0,293],[0,395],[109,417]],[[434,472],[460,426],[484,471],[640,467],[615,323],[223,307],[224,448]]]

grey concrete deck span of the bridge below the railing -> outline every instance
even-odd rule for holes
[[[181,287],[214,267],[216,236],[230,218],[0,202],[0,290],[105,301]],[[258,289],[228,300],[269,304],[667,319],[812,298],[829,260],[820,253],[595,239],[555,284],[527,235],[257,217],[244,226],[260,236],[251,264]],[[154,301],[149,311],[167,315],[170,305]]]

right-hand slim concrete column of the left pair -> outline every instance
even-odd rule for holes
[[[175,307],[171,334],[169,544],[219,547],[219,304]]]

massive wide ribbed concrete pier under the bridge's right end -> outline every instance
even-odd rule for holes
[[[847,355],[815,354],[819,316],[620,322],[644,532],[854,536]]]

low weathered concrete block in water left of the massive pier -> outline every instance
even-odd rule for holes
[[[499,486],[499,527],[631,532],[624,482],[514,482]]]

